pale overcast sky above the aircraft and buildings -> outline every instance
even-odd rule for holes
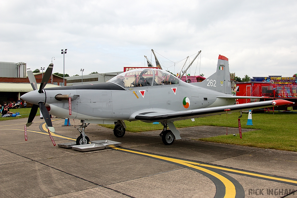
[[[290,77],[297,73],[297,1],[0,1],[0,61],[34,70],[55,57],[53,72],[63,73],[61,49],[70,76],[145,66],[154,49],[174,73],[183,61],[174,62],[202,50],[191,75],[200,65],[210,76],[221,54],[239,77]]]

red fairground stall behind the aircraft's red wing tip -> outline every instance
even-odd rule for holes
[[[281,84],[271,82],[238,82],[235,87],[236,96],[265,97],[261,99],[236,99],[236,104],[285,99],[295,102],[295,104],[270,107],[265,110],[287,110],[287,107],[292,107],[292,110],[297,110],[297,84],[295,83]]]

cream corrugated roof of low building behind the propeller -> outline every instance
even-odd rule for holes
[[[37,83],[39,88],[40,83]],[[57,85],[46,84],[45,88],[50,87],[59,87]],[[33,91],[33,88],[30,83],[0,83],[0,91],[2,92],[29,92]]]

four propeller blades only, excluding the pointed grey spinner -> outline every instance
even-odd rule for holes
[[[48,66],[48,68],[46,69],[46,71],[45,71],[45,73],[43,75],[43,78],[41,80],[41,84],[40,84],[38,93],[42,94],[43,88],[48,83],[48,80],[50,80],[50,76],[51,76],[52,71],[53,71],[53,66],[54,65],[51,63]],[[33,74],[32,70],[30,68],[27,69],[27,74],[28,74],[28,78],[29,78],[29,81],[31,83],[31,86],[32,86],[33,90],[37,90],[36,79],[35,79],[34,74]],[[50,115],[48,114],[48,110],[45,107],[44,102],[45,101],[39,101],[38,102],[38,105],[37,104],[33,104],[32,108],[31,108],[31,111],[30,111],[30,114],[29,114],[29,118],[28,118],[28,122],[27,122],[26,126],[30,126],[32,124],[32,121],[35,118],[36,113],[37,113],[37,110],[38,110],[38,107],[39,107],[39,109],[40,109],[40,111],[41,111],[41,113],[43,115],[43,118],[45,120],[45,123],[48,125],[48,129],[50,130],[50,132],[55,132],[55,128],[53,128],[52,121],[50,120]]]

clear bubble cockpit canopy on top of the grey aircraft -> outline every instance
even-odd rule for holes
[[[141,68],[121,73],[108,82],[122,87],[145,87],[179,84],[179,79],[161,69]]]

